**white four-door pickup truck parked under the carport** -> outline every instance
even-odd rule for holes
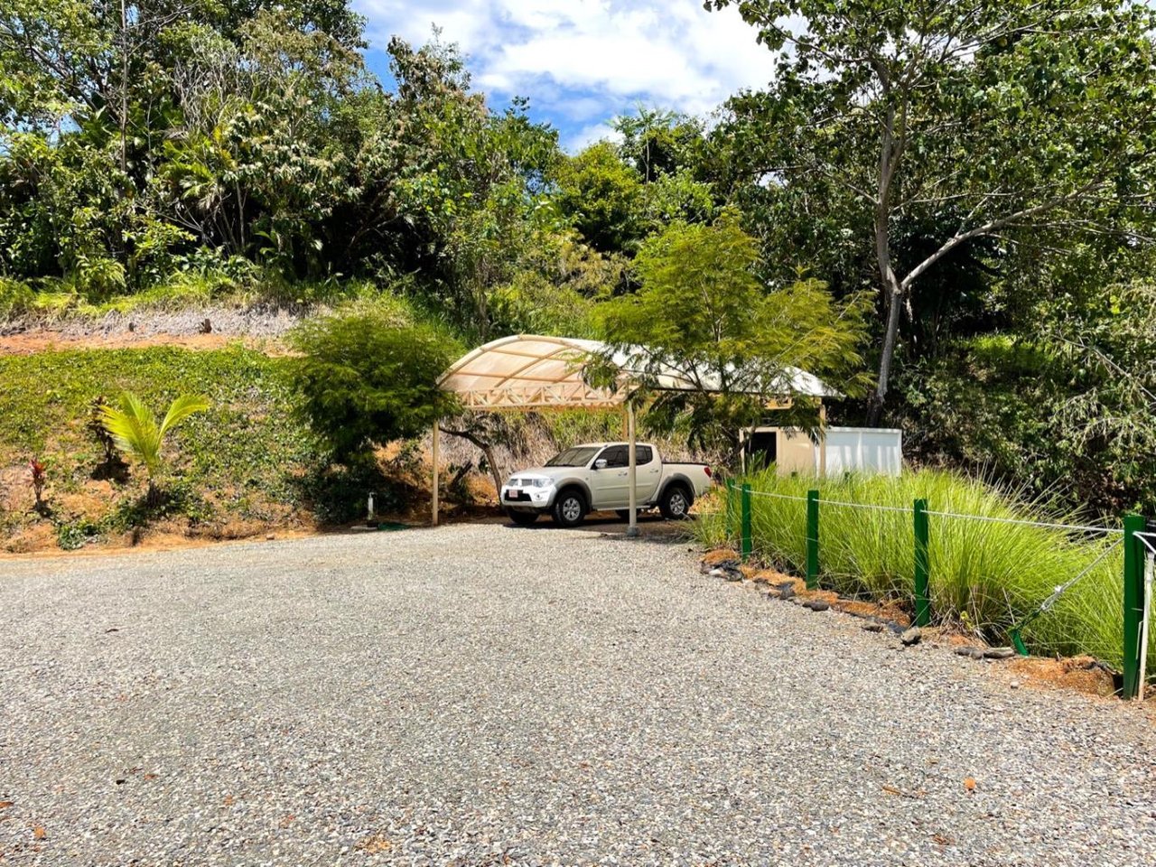
[[[635,445],[638,510],[658,507],[662,517],[681,519],[711,487],[705,464],[664,464],[647,443]],[[629,446],[587,443],[555,454],[543,467],[523,469],[502,486],[502,505],[514,524],[528,526],[549,513],[573,527],[587,512],[613,510],[630,517]]]

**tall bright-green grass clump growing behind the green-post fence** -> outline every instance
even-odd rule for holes
[[[806,568],[807,490],[814,479],[780,476],[775,468],[749,477],[755,491],[798,499],[753,499],[756,554],[800,575]],[[912,503],[926,498],[941,512],[1045,523],[1074,516],[1046,503],[1025,503],[1022,491],[940,470],[906,473],[899,479],[847,476],[820,489],[820,565],[823,586],[852,596],[911,603],[914,583]],[[887,506],[899,511],[854,509],[822,501]],[[1081,541],[1062,531],[964,518],[931,518],[933,616],[978,636],[1008,643],[1018,625],[1061,584],[1075,578],[1112,542]],[[703,540],[727,541],[725,509],[698,524]],[[1122,553],[1117,546],[1095,563],[1045,614],[1024,629],[1037,653],[1090,653],[1119,668],[1122,658]],[[1156,649],[1154,649],[1156,661]]]

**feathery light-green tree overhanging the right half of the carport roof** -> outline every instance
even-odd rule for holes
[[[650,427],[699,444],[736,446],[740,430],[784,398],[794,400],[794,421],[816,424],[817,405],[794,392],[798,369],[857,391],[861,306],[835,303],[817,280],[769,290],[757,264],[758,245],[733,209],[645,240],[635,262],[642,288],[600,309],[610,349],[590,365],[591,381],[614,384],[613,360],[625,357],[631,387],[652,398]],[[662,387],[672,373],[684,387]]]

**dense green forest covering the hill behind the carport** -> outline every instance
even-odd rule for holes
[[[1156,511],[1150,5],[704,3],[727,5],[786,49],[768,89],[712,123],[640,109],[566,155],[436,38],[393,39],[383,88],[344,0],[12,0],[0,317],[388,292],[464,344],[681,353],[695,340],[670,316],[646,319],[697,331],[692,287],[655,251],[738,214],[757,255],[734,301],[812,339],[768,357],[855,393],[857,328],[810,326],[875,299],[875,397],[837,421],[899,424],[917,460],[1033,495]],[[733,284],[731,262],[686,251]],[[793,313],[766,321],[766,299]]]

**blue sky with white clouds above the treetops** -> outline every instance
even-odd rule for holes
[[[428,42],[435,25],[468,58],[495,109],[526,96],[576,150],[639,103],[706,114],[771,77],[772,55],[733,9],[701,0],[354,0],[368,18],[370,67],[387,80],[394,34]]]

